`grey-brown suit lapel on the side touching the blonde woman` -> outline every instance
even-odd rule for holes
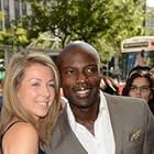
[[[53,153],[55,154],[59,154],[59,152],[65,152],[67,154],[88,154],[72,131],[65,109],[59,116],[57,127],[52,139],[54,146]]]

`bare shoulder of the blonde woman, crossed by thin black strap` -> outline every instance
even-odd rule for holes
[[[4,134],[2,147],[7,154],[37,153],[38,135],[35,128],[26,122],[14,123]]]

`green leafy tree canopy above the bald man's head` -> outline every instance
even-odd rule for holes
[[[22,19],[29,40],[45,31],[58,36],[63,46],[82,40],[98,48],[102,61],[120,53],[123,38],[144,34],[144,0],[24,1],[32,4],[32,14]]]

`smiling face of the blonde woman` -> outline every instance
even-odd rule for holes
[[[48,66],[34,63],[24,72],[18,88],[19,103],[37,120],[45,117],[55,98],[54,73]]]

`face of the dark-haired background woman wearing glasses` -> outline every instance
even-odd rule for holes
[[[150,82],[145,77],[138,77],[132,81],[132,86],[129,91],[130,97],[142,98],[146,102],[152,97]]]

